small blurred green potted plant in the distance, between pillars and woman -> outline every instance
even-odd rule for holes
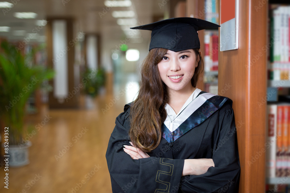
[[[105,85],[104,69],[86,69],[83,74],[84,93],[86,94],[86,108],[94,108],[93,98],[95,98],[101,87]]]

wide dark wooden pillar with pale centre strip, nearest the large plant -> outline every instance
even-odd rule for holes
[[[66,45],[58,53],[54,53],[54,43],[53,43],[53,24],[55,22],[65,23],[63,28],[65,29],[64,33],[61,36],[64,36],[66,39]],[[64,78],[65,83],[60,81],[60,84],[64,85],[65,94],[58,97],[55,94],[56,78],[50,81],[53,91],[49,93],[49,107],[50,108],[78,108],[79,107],[79,78],[75,78],[75,44],[78,43],[80,37],[83,34],[74,34],[74,19],[72,18],[48,18],[46,25],[46,35],[47,35],[47,58],[48,66],[52,69],[55,69],[55,62],[62,61],[63,58],[66,58],[66,62],[61,63],[61,65],[66,66],[66,78]],[[55,27],[56,29],[57,27]],[[58,34],[57,34],[58,35]],[[56,36],[57,36],[56,35]],[[64,40],[60,38],[60,40]],[[62,71],[63,72],[63,71]],[[59,73],[59,72],[56,72]],[[57,76],[57,75],[56,75]],[[59,89],[60,90],[60,89]],[[63,92],[63,93],[64,93]]]

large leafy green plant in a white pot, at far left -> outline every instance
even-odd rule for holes
[[[23,166],[29,163],[27,148],[31,143],[22,143],[23,135],[27,132],[24,129],[26,102],[44,80],[54,76],[52,70],[33,65],[27,60],[33,54],[32,51],[24,56],[7,41],[1,43],[0,117],[9,132],[9,166]]]

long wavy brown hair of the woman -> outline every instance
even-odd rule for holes
[[[198,77],[204,69],[199,49],[193,49],[200,58],[195,68],[191,85],[196,87]],[[165,104],[168,101],[166,85],[161,80],[158,63],[167,49],[153,48],[145,58],[141,68],[140,89],[133,106],[131,106],[131,128],[129,136],[135,147],[144,152],[151,152],[160,144],[161,125],[166,119]],[[194,65],[194,64],[193,64]]]

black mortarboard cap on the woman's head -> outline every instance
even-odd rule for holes
[[[149,51],[158,47],[179,52],[200,48],[197,31],[216,27],[220,25],[192,17],[178,17],[131,27],[131,29],[152,31]]]

